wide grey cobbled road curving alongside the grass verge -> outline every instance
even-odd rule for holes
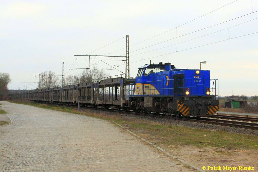
[[[0,171],[190,171],[108,121],[1,104]]]

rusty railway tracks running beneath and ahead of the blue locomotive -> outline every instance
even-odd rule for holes
[[[55,104],[55,105],[77,108],[76,105],[63,105],[63,104]],[[119,112],[119,113],[123,113],[123,114],[143,115],[143,116],[151,116],[151,117],[159,117],[159,118],[167,118],[167,119],[176,119],[176,120],[181,120],[181,121],[192,121],[192,122],[198,122],[198,123],[206,123],[206,124],[214,124],[214,125],[222,125],[222,126],[230,126],[230,127],[258,130],[258,118],[255,119],[253,117],[214,115],[212,117],[177,118],[175,116],[164,116],[164,115],[160,115],[160,114],[156,114],[156,113],[153,113],[153,114],[147,114],[147,112],[136,113],[136,112],[133,112],[131,109],[128,109],[125,112],[125,111],[123,111],[123,109],[119,110],[117,107],[110,107],[109,109],[106,109],[102,106],[98,106],[97,108],[94,108],[93,106],[88,106],[88,107],[80,106],[80,108],[112,111],[112,112]]]

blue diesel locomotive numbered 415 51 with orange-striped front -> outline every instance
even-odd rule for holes
[[[145,64],[129,84],[134,111],[176,116],[211,116],[219,110],[218,80],[210,71],[179,69],[170,63]]]

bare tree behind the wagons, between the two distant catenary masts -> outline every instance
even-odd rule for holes
[[[42,88],[52,88],[60,85],[60,79],[58,76],[54,76],[54,72],[45,71],[41,73],[41,87]]]

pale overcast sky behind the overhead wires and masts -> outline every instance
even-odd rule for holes
[[[207,61],[202,69],[210,70],[211,78],[219,79],[220,95],[231,95],[233,90],[233,94],[252,96],[258,94],[258,33],[255,33],[258,32],[258,0],[233,1],[1,1],[0,72],[10,74],[10,89],[24,86],[19,84],[21,81],[37,82],[38,78],[33,75],[43,71],[61,75],[62,62],[65,62],[66,76],[77,75],[82,69],[68,68],[88,67],[89,62],[88,57],[79,56],[80,60],[76,61],[75,54],[91,53],[122,38],[91,54],[104,55],[124,48],[109,54],[124,55],[125,36],[129,35],[130,76],[135,76],[138,68],[150,60],[155,64],[169,62],[178,68],[199,68],[199,62]],[[226,4],[229,5],[220,8]],[[209,13],[213,10],[216,11]],[[206,13],[209,14],[202,16]],[[221,22],[224,23],[218,24]],[[215,26],[209,27],[212,25]],[[206,27],[209,28],[203,29]],[[163,34],[156,36],[160,33]],[[250,33],[255,34],[239,37]],[[197,39],[190,40],[193,38]],[[168,39],[171,40],[157,44]],[[143,42],[136,44],[140,41]],[[183,41],[186,42],[179,44]],[[210,44],[213,42],[217,43]],[[154,44],[157,45],[150,46]],[[202,46],[205,44],[209,45]],[[144,48],[147,46],[150,47]],[[92,57],[91,63],[97,68],[110,69],[100,61],[106,59]],[[119,66],[124,72],[122,60],[113,58],[105,62]],[[115,70],[107,72],[121,74]],[[37,83],[30,84],[37,86]],[[26,85],[33,88],[30,84]]]

